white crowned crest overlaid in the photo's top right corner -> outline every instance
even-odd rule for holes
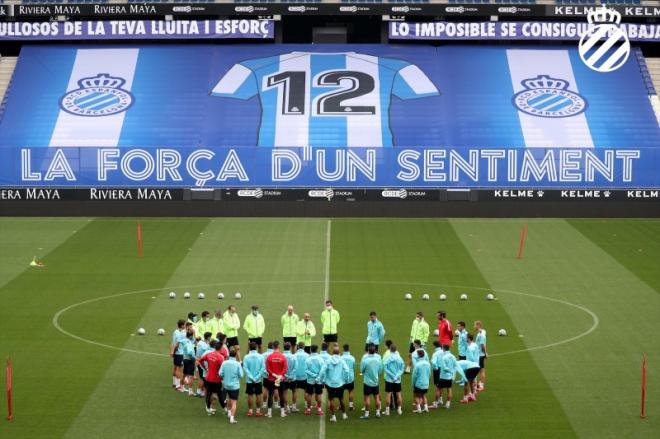
[[[619,27],[621,14],[603,5],[587,15],[589,29],[580,38],[582,62],[600,73],[613,72],[628,60],[630,41]]]

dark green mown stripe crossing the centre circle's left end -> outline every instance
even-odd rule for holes
[[[36,234],[48,223],[32,224],[30,233]],[[1,351],[14,360],[15,410],[12,423],[0,423],[0,437],[62,437],[117,356],[59,333],[51,324],[55,312],[117,288],[163,285],[203,225],[143,220],[145,257],[138,260],[135,221],[94,220],[52,251],[46,267],[24,272],[0,289]],[[62,324],[121,345],[149,302],[145,297],[119,312],[98,307],[91,315],[69,314]],[[131,385],[130,374],[123,384]]]

